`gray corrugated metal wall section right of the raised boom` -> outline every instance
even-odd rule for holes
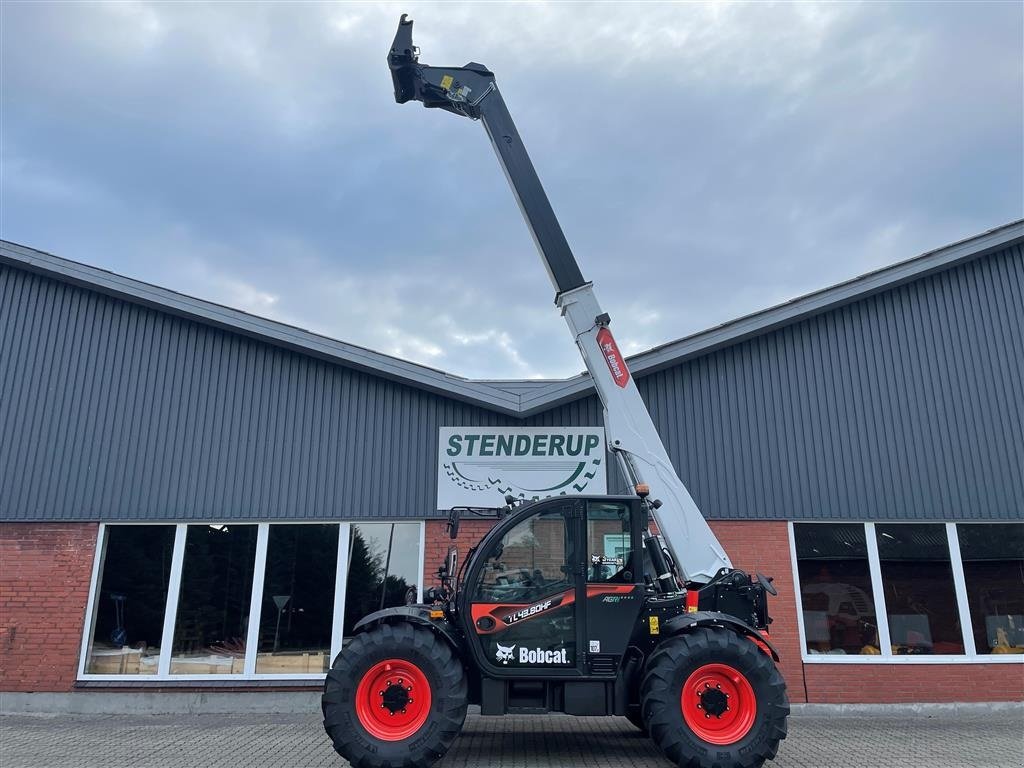
[[[711,517],[1024,518],[1019,246],[639,386]]]

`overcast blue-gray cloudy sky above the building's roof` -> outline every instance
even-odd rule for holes
[[[2,5],[0,236],[473,378],[582,364],[498,82],[632,353],[1024,215],[1022,3]]]

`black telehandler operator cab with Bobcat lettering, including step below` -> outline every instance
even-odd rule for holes
[[[520,507],[483,539],[458,613],[485,714],[608,714],[605,681],[649,589],[646,526],[637,497],[560,497]]]

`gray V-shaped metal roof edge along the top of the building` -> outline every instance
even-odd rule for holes
[[[1024,242],[1024,219],[654,347],[629,357],[630,370],[634,376],[642,377],[1017,242]],[[465,379],[8,241],[0,240],[0,263],[242,333],[509,416],[530,416],[593,392],[589,374],[541,381]]]

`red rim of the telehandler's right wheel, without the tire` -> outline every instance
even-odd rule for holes
[[[750,681],[725,664],[707,664],[686,678],[680,706],[690,730],[712,744],[735,743],[758,714]]]

